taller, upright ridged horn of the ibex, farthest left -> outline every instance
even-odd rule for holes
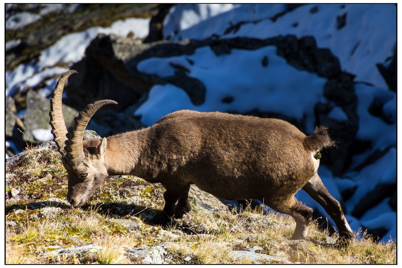
[[[64,124],[63,110],[62,110],[62,96],[64,84],[69,76],[72,74],[78,74],[76,70],[70,70],[60,77],[59,81],[57,81],[56,87],[53,90],[52,98],[50,99],[50,122],[51,125],[51,133],[53,134],[53,141],[56,143],[59,151],[62,155],[66,155],[66,151],[64,151],[64,142],[67,140],[66,134],[67,129]]]

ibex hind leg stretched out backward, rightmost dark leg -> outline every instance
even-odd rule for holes
[[[314,200],[320,204],[326,213],[335,222],[338,228],[338,233],[341,239],[350,241],[354,238],[353,231],[343,215],[342,206],[332,195],[328,192],[322,183],[320,177],[316,173],[302,188]]]

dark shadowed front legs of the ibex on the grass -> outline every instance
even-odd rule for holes
[[[152,218],[152,223],[165,225],[166,223],[170,222],[172,217],[178,218],[175,213],[176,209],[180,215],[183,217],[183,214],[187,211],[189,212],[190,204],[188,203],[188,193],[190,189],[190,185],[183,186],[183,185],[169,185],[165,186],[166,192],[163,193],[163,198],[165,199],[165,207],[159,213]],[[176,201],[178,204],[176,206]],[[188,203],[188,205],[186,204]],[[183,212],[183,213],[182,213]]]

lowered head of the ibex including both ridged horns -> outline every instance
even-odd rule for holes
[[[105,104],[117,104],[114,100],[99,100],[88,104],[86,108],[74,118],[72,127],[66,129],[62,112],[62,95],[64,84],[75,70],[66,72],[57,82],[50,100],[50,122],[55,141],[62,162],[68,174],[67,200],[74,207],[84,205],[96,188],[108,176],[105,167],[105,152],[107,140],[90,139],[82,141],[84,130],[96,110]]]

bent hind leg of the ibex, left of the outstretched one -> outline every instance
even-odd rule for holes
[[[313,209],[301,204],[294,196],[289,200],[281,203],[275,202],[275,204],[268,204],[271,209],[287,214],[293,217],[296,222],[296,229],[290,238],[291,240],[304,239],[307,240],[308,225],[313,217]]]

